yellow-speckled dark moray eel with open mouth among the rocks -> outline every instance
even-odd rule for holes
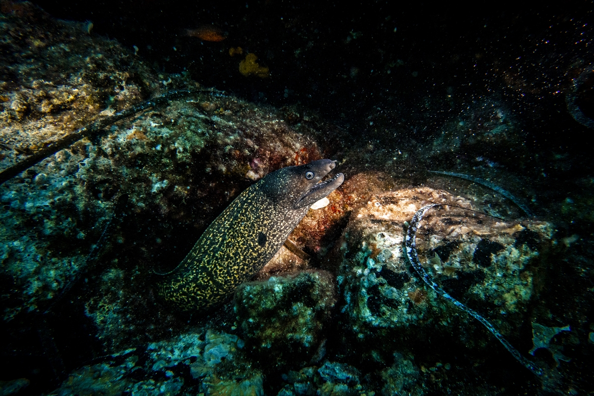
[[[342,173],[320,182],[334,166],[318,160],[284,167],[249,186],[160,283],[160,295],[179,311],[223,302],[270,261],[312,204],[342,184]]]

